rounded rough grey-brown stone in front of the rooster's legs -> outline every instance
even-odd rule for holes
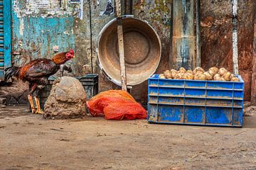
[[[61,77],[53,83],[53,89],[44,106],[44,118],[80,118],[86,113],[86,94],[78,79]]]

